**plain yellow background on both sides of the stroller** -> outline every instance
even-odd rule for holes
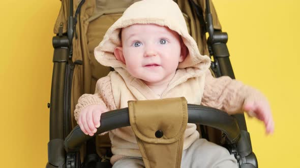
[[[272,106],[276,130],[248,119],[259,167],[300,167],[300,1],[214,0],[237,79]],[[49,141],[53,24],[57,1],[2,1],[1,167],[45,167]]]

